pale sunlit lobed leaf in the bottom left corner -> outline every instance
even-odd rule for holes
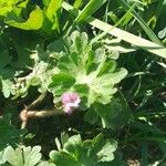
[[[8,146],[4,149],[4,158],[12,166],[35,166],[41,159],[41,147],[24,147],[20,146],[17,149],[13,149],[11,146]]]

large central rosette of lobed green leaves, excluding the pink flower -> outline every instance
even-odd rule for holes
[[[54,44],[54,45],[53,45]],[[49,48],[59,48],[59,42]],[[52,76],[50,90],[55,102],[66,91],[73,91],[82,97],[82,104],[90,107],[94,103],[108,104],[116,93],[116,84],[127,74],[123,68],[108,58],[101,45],[92,45],[85,32],[73,32],[58,59],[59,73]]]

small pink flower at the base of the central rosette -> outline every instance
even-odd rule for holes
[[[79,107],[81,102],[80,96],[74,92],[63,93],[61,102],[64,107],[64,112],[71,114],[75,108]]]

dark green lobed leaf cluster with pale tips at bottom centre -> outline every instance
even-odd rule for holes
[[[58,141],[56,141],[58,142]],[[63,139],[61,148],[50,153],[51,162],[58,166],[102,166],[111,164],[117,143],[114,139],[104,139],[100,134],[93,139],[82,141],[80,135],[74,135],[68,141]]]

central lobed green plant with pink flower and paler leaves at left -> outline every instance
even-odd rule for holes
[[[56,51],[59,44],[64,46]],[[87,34],[75,31],[68,42],[60,40],[50,43],[48,51],[42,54],[38,52],[32,54],[35,65],[29,75],[22,77],[21,81],[20,77],[15,80],[12,91],[14,97],[20,95],[23,97],[31,86],[37,86],[42,94],[52,93],[54,104],[61,103],[64,112],[69,114],[74,108],[91,107],[96,112],[93,113],[95,118],[97,116],[112,118],[113,113],[98,111],[101,105],[106,104],[110,108],[115,106],[115,114],[121,112],[118,100],[113,100],[113,94],[117,91],[116,84],[126,76],[127,71],[116,68],[115,60],[111,59],[104,46],[101,45],[93,51]],[[43,54],[46,54],[46,59],[41,58]],[[93,118],[89,116],[91,115],[86,114],[87,121]],[[106,127],[104,122],[103,126]]]

